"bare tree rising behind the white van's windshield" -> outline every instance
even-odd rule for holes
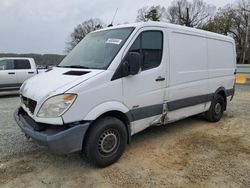
[[[104,26],[105,24],[98,18],[92,18],[78,24],[70,35],[70,41],[66,44],[66,52],[70,52],[88,33]]]

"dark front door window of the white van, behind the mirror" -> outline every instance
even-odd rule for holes
[[[160,31],[141,33],[130,48],[130,52],[138,52],[142,59],[142,70],[158,67],[162,59],[163,36]]]

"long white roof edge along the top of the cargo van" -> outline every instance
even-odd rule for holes
[[[191,28],[191,27],[186,27],[186,26],[181,26],[181,25],[176,25],[176,24],[170,24],[170,23],[166,23],[166,22],[156,22],[156,21],[122,24],[122,25],[107,27],[107,28],[104,28],[104,29],[101,29],[101,30],[116,29],[116,28],[118,29],[118,28],[125,28],[125,27],[136,27],[136,28],[165,27],[165,28],[176,30],[176,31],[191,32],[191,33],[195,33],[195,34],[198,34],[198,35],[203,35],[203,36],[206,36],[206,37],[213,37],[213,38],[217,38],[217,39],[224,39],[224,40],[227,40],[227,41],[234,42],[234,39],[232,37],[230,37],[230,36],[221,35],[221,34],[209,32],[209,31],[204,31],[204,30],[201,30],[201,29],[196,29],[196,28]]]

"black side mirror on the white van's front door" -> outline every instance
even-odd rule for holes
[[[129,52],[123,62],[123,76],[136,75],[141,68],[140,59],[139,53]]]

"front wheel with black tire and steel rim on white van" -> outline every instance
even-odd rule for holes
[[[124,123],[115,117],[103,117],[91,125],[83,149],[91,164],[106,167],[121,157],[126,145]]]

